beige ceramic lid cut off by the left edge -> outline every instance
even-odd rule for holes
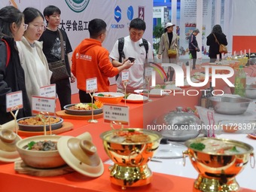
[[[13,131],[0,129],[0,161],[9,163],[20,160],[20,154],[16,148],[16,143],[20,140],[20,136]]]

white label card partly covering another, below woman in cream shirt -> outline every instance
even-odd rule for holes
[[[55,114],[55,98],[32,96],[32,113],[39,114],[41,111]]]

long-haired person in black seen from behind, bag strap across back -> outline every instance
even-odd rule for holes
[[[206,41],[206,44],[209,46],[210,62],[215,62],[218,54],[221,59],[221,53],[218,51],[219,44],[216,41],[215,36],[218,39],[219,44],[227,45],[227,38],[226,38],[226,35],[224,35],[224,33],[222,32],[221,26],[220,25],[213,26],[212,33],[208,35],[207,41]]]

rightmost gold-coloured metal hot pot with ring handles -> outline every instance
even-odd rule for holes
[[[244,149],[237,154],[217,154],[203,152],[190,148],[190,144],[194,142],[203,142],[206,139],[214,139],[232,144],[236,147]],[[205,192],[233,192],[239,190],[239,184],[236,182],[236,175],[245,168],[250,160],[251,167],[254,168],[254,148],[244,142],[238,142],[231,139],[215,139],[215,138],[196,138],[185,142],[187,151],[183,151],[183,159],[190,157],[190,161],[194,168],[199,172],[194,187]],[[250,158],[251,157],[251,158]]]

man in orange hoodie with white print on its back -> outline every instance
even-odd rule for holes
[[[90,20],[88,30],[90,38],[84,38],[75,48],[72,55],[72,73],[78,81],[80,102],[91,102],[90,94],[87,93],[87,79],[97,78],[97,92],[108,92],[109,81],[124,69],[133,66],[133,62],[128,61],[123,65],[114,67],[109,60],[109,53],[102,47],[107,35],[107,24],[104,20]]]

